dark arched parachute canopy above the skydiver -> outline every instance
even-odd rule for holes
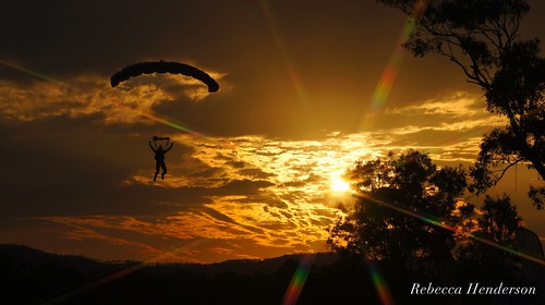
[[[110,83],[112,87],[116,87],[119,83],[131,77],[152,73],[171,73],[192,76],[193,78],[205,83],[208,86],[209,93],[219,90],[218,83],[216,83],[210,75],[206,74],[206,72],[201,71],[193,65],[170,61],[148,61],[128,65],[113,74],[110,78]]]

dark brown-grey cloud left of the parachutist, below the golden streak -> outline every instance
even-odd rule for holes
[[[98,119],[4,122],[2,213],[149,212],[157,210],[157,200],[168,200],[157,187],[123,184],[137,169],[152,171],[153,155],[146,146],[150,135],[130,135],[125,126],[105,127]],[[180,144],[177,149],[190,150]]]

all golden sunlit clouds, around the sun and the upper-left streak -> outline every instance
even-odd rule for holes
[[[153,181],[153,156],[144,143],[141,152],[149,163],[135,164],[119,183],[123,190],[145,188],[161,195],[147,205],[169,212],[144,216],[126,210],[120,217],[41,218],[62,225],[59,244],[98,243],[105,253],[124,247],[136,255],[132,258],[149,261],[207,263],[325,251],[326,229],[341,215],[337,206],[351,197],[350,184],[342,174],[356,160],[415,148],[429,152],[434,160],[471,161],[480,135],[499,124],[474,110],[476,98],[459,95],[455,96],[460,98],[456,113],[449,110],[452,96],[445,101],[392,108],[384,114],[385,120],[416,120],[373,132],[332,132],[312,141],[202,135],[147,119],[155,115],[158,106],[179,102],[181,96],[202,98],[199,94],[187,96],[186,88],[177,85],[187,80],[164,78],[162,86],[152,82],[113,90],[102,84],[104,80],[90,76],[74,78],[70,85],[36,83],[23,88],[7,84],[0,89],[4,117],[33,121],[99,113],[105,125],[145,122],[154,129],[167,127],[170,134],[165,136],[175,143],[167,156],[166,180]],[[198,91],[199,84],[185,85]],[[41,102],[33,102],[37,99]],[[432,115],[440,118],[437,122],[422,120]],[[441,134],[429,137],[429,133]],[[162,198],[165,194],[175,195]]]

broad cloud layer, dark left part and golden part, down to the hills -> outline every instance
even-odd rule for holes
[[[15,149],[8,154],[2,215],[13,216],[5,222],[16,228],[2,240],[25,236],[66,253],[170,261],[324,251],[326,229],[340,215],[337,204],[348,199],[330,184],[354,161],[407,148],[437,161],[471,161],[480,135],[502,123],[480,109],[479,97],[457,93],[387,108],[378,122],[392,123],[374,132],[339,131],[319,141],[220,137],[142,115],[180,96],[157,87],[124,90],[125,100],[145,96],[146,102],[117,112],[122,98],[92,84],[89,90],[47,82],[5,87],[20,94],[7,95],[1,113],[2,142]],[[66,97],[74,100],[70,107]],[[149,130],[175,143],[165,181],[152,180]],[[27,235],[22,223],[41,230]],[[101,251],[90,249],[97,245]]]

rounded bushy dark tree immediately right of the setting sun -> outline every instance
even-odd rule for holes
[[[330,229],[328,245],[340,253],[405,268],[421,258],[448,257],[464,170],[438,169],[422,152],[356,162],[348,172],[356,203]]]

